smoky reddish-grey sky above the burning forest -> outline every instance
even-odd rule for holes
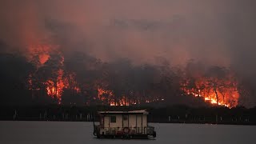
[[[255,6],[253,0],[2,0],[0,40],[24,54],[53,44],[103,61],[195,59],[254,74]]]

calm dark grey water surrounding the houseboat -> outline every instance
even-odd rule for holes
[[[237,144],[256,143],[256,126],[158,124],[156,140],[94,138],[92,122],[0,122],[1,144]]]

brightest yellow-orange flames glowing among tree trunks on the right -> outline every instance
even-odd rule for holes
[[[234,107],[238,105],[239,93],[237,82],[231,78],[198,78],[182,83],[182,90],[194,97],[203,97],[213,105]]]

